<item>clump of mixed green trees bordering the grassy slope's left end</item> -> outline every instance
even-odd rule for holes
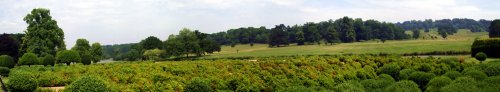
[[[170,35],[167,40],[150,36],[139,43],[105,45],[103,55],[113,60],[163,60],[189,55],[202,56],[220,51],[220,45],[207,33],[182,29],[179,35]]]

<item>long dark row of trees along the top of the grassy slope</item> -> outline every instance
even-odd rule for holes
[[[242,27],[230,29],[226,32],[210,34],[219,44],[253,44],[262,43],[270,45],[298,43],[321,44],[356,42],[373,39],[402,40],[409,36],[404,33],[404,29],[393,23],[380,22],[377,20],[363,21],[361,18],[343,17],[337,20],[322,21],[319,23],[308,22],[302,25],[276,25],[267,29],[265,27]]]

